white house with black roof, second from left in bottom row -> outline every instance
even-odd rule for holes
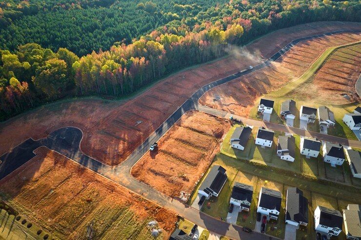
[[[241,211],[249,211],[252,202],[253,186],[236,182],[233,186],[231,200],[235,206],[240,206]]]

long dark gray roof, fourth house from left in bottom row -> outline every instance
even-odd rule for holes
[[[308,200],[297,187],[287,189],[286,220],[308,222]]]

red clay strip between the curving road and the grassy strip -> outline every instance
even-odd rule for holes
[[[206,92],[201,97],[200,103],[211,108],[248,116],[249,111],[258,104],[255,102],[258,97],[297,79],[326,49],[357,42],[360,39],[361,34],[342,33],[302,41],[270,66]],[[319,79],[319,84],[327,86],[322,79]],[[314,92],[312,88],[307,89],[309,94]]]

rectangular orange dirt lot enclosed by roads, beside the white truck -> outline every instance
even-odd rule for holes
[[[147,152],[132,168],[132,175],[172,197],[179,197],[181,191],[190,194],[229,128],[224,119],[186,112],[160,139],[158,152]]]

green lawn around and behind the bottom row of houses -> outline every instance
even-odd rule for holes
[[[221,190],[220,195],[212,197],[206,201],[202,211],[216,218],[225,218],[228,213],[229,199],[232,187],[235,182],[253,185],[254,193],[249,213],[240,213],[237,224],[247,226],[252,229],[256,226],[258,196],[262,186],[278,190],[282,194],[281,213],[277,221],[269,221],[266,224],[266,234],[284,238],[285,235],[285,213],[283,208],[286,201],[286,190],[289,186],[297,186],[303,191],[303,195],[309,202],[309,223],[307,227],[301,227],[297,230],[298,240],[315,239],[315,230],[313,223],[313,212],[317,205],[332,207],[342,211],[348,203],[361,203],[360,188],[351,186],[341,186],[337,184],[302,178],[299,175],[293,175],[283,170],[275,168],[261,167],[258,164],[252,164],[246,160],[235,159],[217,154],[213,165],[220,165],[227,171],[228,182]],[[353,192],[355,194],[349,194]],[[197,189],[192,198],[195,198]],[[259,229],[255,229],[259,231]],[[343,235],[344,237],[344,235]],[[343,239],[342,235],[338,239]]]

